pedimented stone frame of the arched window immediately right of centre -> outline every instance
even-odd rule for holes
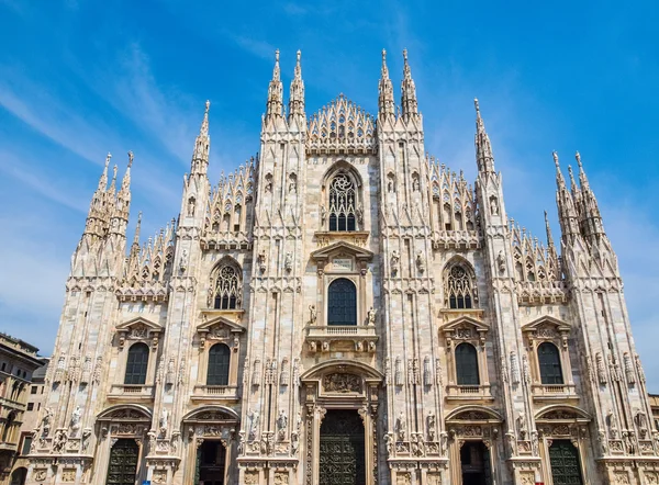
[[[446,341],[447,363],[447,399],[472,401],[491,399],[490,376],[488,373],[488,352],[485,342],[490,328],[479,319],[470,316],[460,316],[440,328]],[[456,348],[460,343],[470,343],[476,348],[478,358],[479,385],[458,385],[456,366]]]

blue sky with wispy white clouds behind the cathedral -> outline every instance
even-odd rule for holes
[[[108,151],[120,177],[135,153],[147,237],[179,211],[206,99],[211,178],[258,150],[275,48],[287,93],[302,49],[308,113],[340,92],[376,113],[380,50],[398,91],[407,48],[426,149],[473,180],[478,97],[509,214],[540,238],[544,210],[559,234],[551,150],[580,150],[659,392],[655,2],[239,3],[0,0],[2,330],[52,351]]]

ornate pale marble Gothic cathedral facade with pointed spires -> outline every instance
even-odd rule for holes
[[[279,54],[259,155],[212,184],[209,104],[178,219],[131,244],[105,162],[71,259],[29,484],[659,483],[616,256],[579,154],[561,235],[424,149],[406,53],[378,113],[306,115]],[[576,180],[578,179],[578,181]],[[559,257],[560,250],[560,257]]]

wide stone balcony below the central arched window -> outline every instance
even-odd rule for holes
[[[306,327],[311,352],[375,352],[378,336],[373,325],[313,325]]]

